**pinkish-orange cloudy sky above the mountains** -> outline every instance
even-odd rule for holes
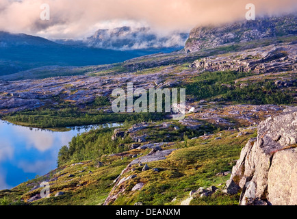
[[[50,19],[40,19],[40,5]],[[0,30],[45,38],[86,38],[97,29],[151,27],[157,34],[189,32],[196,26],[297,12],[296,0],[0,0]]]

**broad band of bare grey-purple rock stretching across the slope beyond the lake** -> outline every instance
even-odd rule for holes
[[[129,68],[132,72],[121,73],[120,75],[0,81],[0,114],[34,110],[42,105],[53,107],[60,104],[55,101],[55,97],[58,97],[62,102],[72,103],[83,108],[86,104],[92,103],[96,96],[109,96],[115,88],[125,88],[128,81],[133,82],[135,88],[144,88],[146,90],[149,88],[174,88],[179,86],[181,81],[185,83],[185,78],[190,80],[205,70],[211,72],[216,70],[238,70],[240,72],[251,70],[253,73],[258,74],[259,77],[253,75],[252,78],[243,78],[246,81],[251,81],[256,77],[257,79],[272,77],[272,80],[279,88],[291,89],[296,86],[296,51],[296,43],[283,42],[261,47],[261,50],[259,48],[248,49],[202,59],[197,59],[199,54],[196,54],[186,61],[192,62],[190,67],[183,68],[183,70],[180,70],[180,64],[173,66],[169,64],[163,66],[157,72],[139,74],[133,72],[133,69],[139,68],[144,63],[142,60],[135,59],[125,63],[125,68]],[[173,55],[173,57],[175,56]],[[148,58],[148,60],[150,59]],[[115,68],[114,66],[110,67]],[[243,79],[240,80],[243,81]],[[248,86],[248,83],[236,84],[237,81],[232,86]]]

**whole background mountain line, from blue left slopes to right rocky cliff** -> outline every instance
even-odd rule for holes
[[[99,29],[82,40],[47,40],[26,34],[0,31],[0,76],[48,66],[96,66],[124,62],[154,53],[211,49],[223,44],[296,36],[297,16],[263,17],[225,25],[196,27],[190,32],[162,36],[148,27]],[[254,43],[254,42],[251,42]],[[257,41],[255,41],[257,43]],[[232,48],[230,47],[232,50]],[[67,68],[68,69],[68,68]],[[73,69],[73,68],[69,68]],[[79,71],[78,71],[79,72]],[[70,74],[68,70],[66,74]],[[83,74],[83,73],[77,73]],[[61,74],[63,75],[63,74]]]

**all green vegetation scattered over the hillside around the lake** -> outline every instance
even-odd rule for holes
[[[283,40],[286,40],[286,38],[283,38]],[[259,40],[259,44],[271,44],[271,42],[276,42],[276,39]],[[175,73],[183,74],[189,70],[189,65],[198,58],[211,54],[240,51],[247,47],[257,47],[259,46],[257,43],[258,41],[227,45],[197,53],[188,53],[188,55],[179,53],[144,57],[143,60],[139,58],[122,64],[105,66],[101,68],[101,71],[97,69],[98,72],[92,73],[92,75],[116,75],[124,72],[135,74],[161,72],[168,74],[166,79],[169,80],[175,77]],[[190,69],[189,71],[193,70]],[[76,73],[81,74],[80,71]],[[296,82],[289,88],[279,88],[274,83],[275,78],[273,78],[279,78],[279,75],[272,75],[272,77],[263,75],[263,77],[257,77],[257,79],[255,77],[253,81],[248,81],[250,76],[254,75],[233,71],[199,72],[197,75],[193,73],[184,77],[179,88],[186,88],[187,101],[189,99],[193,101],[207,99],[206,108],[213,107],[210,101],[216,101],[216,105],[220,105],[220,103],[226,103],[226,105],[238,103],[257,105],[294,104],[293,97],[296,93],[294,90],[297,87]],[[66,91],[71,94],[79,90],[79,88],[75,88],[71,84],[66,85],[66,88],[71,88]],[[136,97],[134,98],[136,99]],[[65,101],[62,95],[58,95],[53,98],[57,105],[52,108],[45,105],[33,111],[7,114],[1,119],[17,125],[60,130],[83,125],[124,123],[121,127],[123,131],[135,123],[156,121],[146,129],[135,131],[137,136],[147,135],[146,143],[170,142],[164,149],[177,150],[165,160],[149,163],[150,170],[148,171],[142,172],[140,166],[132,166],[131,168],[135,169],[133,175],[136,175],[136,177],[122,183],[121,188],[116,188],[114,192],[120,192],[122,188],[125,188],[125,192],[118,196],[117,200],[112,203],[113,205],[133,205],[136,202],[142,202],[144,205],[179,205],[181,201],[188,198],[191,190],[200,187],[207,188],[210,185],[222,189],[229,176],[222,177],[217,174],[231,170],[247,140],[256,135],[256,133],[249,133],[237,137],[237,131],[222,131],[222,127],[209,124],[210,122],[206,123],[204,120],[196,120],[198,124],[201,123],[196,129],[187,128],[177,121],[172,122],[172,125],[163,129],[162,123],[168,122],[168,120],[164,120],[166,114],[109,113],[110,100],[108,96],[96,96],[92,103],[75,106],[75,101]],[[224,119],[233,123],[234,126],[237,123],[235,119],[233,120],[229,116]],[[159,128],[156,128],[157,125],[159,125]],[[203,136],[205,133],[213,133],[213,135]],[[222,138],[216,138],[218,133]],[[58,167],[48,177],[49,179],[55,179],[51,181],[51,198],[43,198],[28,205],[103,204],[114,186],[114,179],[133,160],[129,155],[139,157],[151,151],[151,149],[129,151],[133,142],[131,138],[125,135],[124,138],[112,140],[113,134],[114,128],[92,129],[87,133],[75,136],[67,146],[62,146],[57,157]],[[198,136],[202,137],[194,139],[194,137]],[[110,156],[114,153],[119,154]],[[96,165],[99,164],[99,161],[102,162],[102,166]],[[83,164],[71,165],[77,162]],[[157,168],[159,172],[154,172],[153,168]],[[69,175],[73,175],[73,177],[68,177]],[[131,171],[125,172],[122,177],[128,177],[129,175],[132,175]],[[40,188],[29,191],[35,185],[44,181],[45,178],[36,177],[36,179],[22,183],[12,190],[0,191],[0,205],[23,205],[21,199],[27,201],[27,199],[38,194]],[[145,184],[144,188],[132,192],[131,188],[140,182]],[[65,192],[65,194],[54,197],[55,192],[60,191]],[[238,200],[239,194],[231,196],[219,191],[209,197],[194,198],[191,204],[237,205]]]

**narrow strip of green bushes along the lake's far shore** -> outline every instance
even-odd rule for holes
[[[102,99],[98,102],[102,103]],[[148,120],[159,120],[162,114],[139,113],[139,114],[114,114],[105,113],[101,110],[89,110],[83,112],[77,108],[65,108],[61,110],[33,110],[16,112],[3,116],[3,120],[16,125],[38,127],[41,129],[55,129],[61,127],[75,127],[94,125],[101,123],[122,123],[128,120],[130,123],[141,123]]]

